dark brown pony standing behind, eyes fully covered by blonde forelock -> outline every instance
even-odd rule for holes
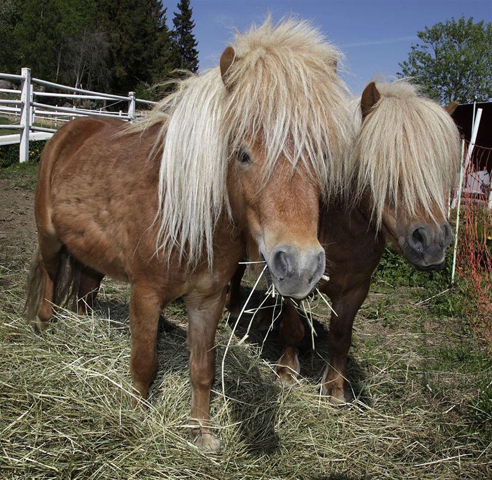
[[[454,102],[443,109],[406,81],[377,86],[371,82],[362,94],[351,198],[323,205],[319,224],[330,278],[319,289],[336,312],[330,320],[322,394],[334,403],[351,399],[346,379],[352,324],[386,240],[418,270],[443,265],[451,239],[447,192],[456,181],[460,158],[459,134],[450,116],[456,106]],[[238,309],[243,271],[238,270],[231,282],[232,311]],[[283,351],[277,374],[292,385],[300,373],[297,348],[305,332],[288,300],[279,333]]]

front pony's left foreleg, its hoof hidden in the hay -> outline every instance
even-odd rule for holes
[[[136,395],[147,399],[157,373],[157,328],[162,298],[147,284],[134,283],[130,292],[130,372]],[[138,399],[133,398],[134,406]]]

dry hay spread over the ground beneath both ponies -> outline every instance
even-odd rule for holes
[[[308,338],[301,355],[307,379],[293,390],[274,382],[275,331],[259,355],[254,332],[235,344],[245,334],[239,326],[225,362],[224,400],[220,362],[231,327],[221,322],[212,415],[222,451],[205,454],[186,429],[181,302],[161,322],[150,408],[135,411],[128,394],[128,288],[104,282],[91,316],[60,311],[39,336],[20,315],[28,259],[2,257],[0,479],[490,478],[490,428],[474,422],[466,391],[454,398],[444,391],[446,384],[467,385],[469,375],[457,365],[426,367],[420,347],[434,349],[435,331],[416,332],[423,320],[405,311],[407,325],[384,328],[380,296],[357,320],[351,375],[359,401],[347,408],[318,396],[324,303],[312,305],[319,350],[312,353]]]

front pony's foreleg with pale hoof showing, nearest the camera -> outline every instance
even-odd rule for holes
[[[210,422],[210,389],[214,380],[215,332],[222,315],[225,289],[204,297],[184,298],[188,312],[189,376],[191,379],[191,430],[200,450],[218,450],[220,442]]]

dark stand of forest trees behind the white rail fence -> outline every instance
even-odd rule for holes
[[[0,71],[27,66],[66,85],[144,92],[197,68],[189,2],[180,12],[175,43],[161,0],[0,0]]]

